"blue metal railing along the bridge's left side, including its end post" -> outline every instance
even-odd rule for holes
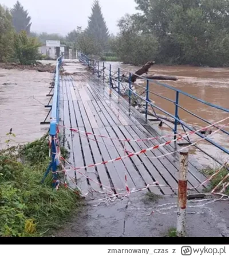
[[[50,161],[50,164],[48,166],[48,169],[46,170],[44,174],[44,178],[42,179],[42,183],[44,183],[45,178],[48,176],[50,170],[52,170],[53,173],[53,187],[56,188],[58,184],[60,184],[60,181],[57,177],[57,166],[59,165],[58,158],[56,157],[57,154],[57,125],[59,123],[59,107],[60,107],[60,67],[62,64],[62,57],[59,57],[57,59],[56,64],[56,72],[55,72],[55,78],[54,78],[54,93],[53,93],[53,103],[52,103],[52,112],[50,117],[50,127],[49,127],[49,135],[51,139],[51,145],[50,145],[50,152],[52,161]]]

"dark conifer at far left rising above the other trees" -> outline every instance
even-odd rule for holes
[[[16,32],[19,33],[21,30],[25,30],[26,33],[29,34],[31,27],[31,17],[29,16],[27,10],[24,10],[21,3],[17,1],[10,12],[13,17],[13,26]]]

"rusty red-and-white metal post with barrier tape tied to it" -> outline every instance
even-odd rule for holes
[[[187,174],[188,174],[188,150],[180,152],[178,183],[178,209],[177,209],[177,236],[185,236],[185,218],[187,205]]]

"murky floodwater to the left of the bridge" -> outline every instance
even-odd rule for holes
[[[34,141],[48,131],[40,122],[49,111],[44,105],[52,79],[48,72],[0,69],[0,149],[6,147],[11,128],[16,137],[10,145]]]

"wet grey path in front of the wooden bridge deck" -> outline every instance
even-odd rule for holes
[[[176,207],[155,212],[158,205],[176,203],[177,199],[167,197],[157,203],[144,201],[143,193],[132,195],[129,199],[117,200],[109,205],[98,205],[90,201],[80,214],[69,222],[64,230],[56,236],[67,237],[120,237],[120,236],[166,236],[168,230],[176,227]],[[201,205],[207,203],[189,203]],[[166,208],[171,205],[167,205]],[[229,204],[218,201],[203,207],[188,207],[187,236],[189,237],[222,237],[229,236]]]

